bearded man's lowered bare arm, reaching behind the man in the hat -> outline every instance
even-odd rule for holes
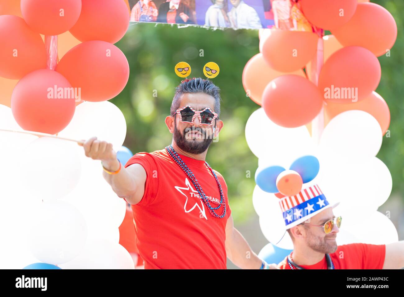
[[[262,260],[252,251],[248,242],[234,227],[233,217],[229,217],[226,223],[226,254],[234,265],[242,269],[259,269]],[[275,264],[269,265],[270,269],[278,269]]]

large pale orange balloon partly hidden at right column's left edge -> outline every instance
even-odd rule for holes
[[[244,66],[242,74],[244,90],[252,101],[261,105],[261,96],[267,84],[274,78],[284,74],[296,74],[306,77],[305,73],[301,69],[291,73],[284,73],[271,69],[271,67],[269,67],[264,61],[263,55],[258,53]]]

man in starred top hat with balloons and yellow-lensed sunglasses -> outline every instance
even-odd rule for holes
[[[311,164],[305,168],[305,164]],[[313,166],[316,165],[316,166]],[[317,169],[313,170],[313,167]],[[271,166],[257,171],[256,181],[266,192],[280,198],[279,205],[293,242],[293,251],[278,264],[280,269],[400,269],[404,267],[404,241],[391,244],[353,243],[337,245],[341,217],[318,184],[304,185],[319,169],[314,156],[297,159],[285,170]],[[307,178],[307,171],[311,171]],[[314,171],[314,172],[313,172]],[[265,181],[265,182],[263,182]],[[275,184],[276,183],[276,184]],[[371,222],[364,221],[365,228]]]

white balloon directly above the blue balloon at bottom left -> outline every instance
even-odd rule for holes
[[[27,242],[40,261],[62,264],[84,248],[87,227],[84,217],[65,201],[39,203],[27,219]]]

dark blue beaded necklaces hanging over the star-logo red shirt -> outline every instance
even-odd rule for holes
[[[209,166],[208,162],[205,161],[205,166],[208,167],[208,169],[210,170],[210,172],[213,173],[213,176],[216,179],[216,183],[219,186],[219,191],[220,191],[220,203],[219,206],[217,207],[213,207],[210,205],[208,198],[206,197],[205,193],[202,190],[202,187],[199,185],[198,183],[198,179],[196,179],[194,173],[192,173],[192,171],[188,168],[188,166],[185,164],[185,162],[181,159],[181,157],[177,154],[177,152],[175,152],[173,145],[168,145],[167,147],[165,147],[167,154],[170,155],[170,157],[174,160],[174,162],[177,163],[178,166],[181,167],[181,169],[185,172],[185,174],[189,177],[189,179],[192,181],[192,183],[194,184],[196,190],[199,193],[199,196],[202,197],[203,202],[205,203],[205,205],[208,207],[209,209],[209,213],[213,216],[213,217],[217,217],[217,218],[222,218],[225,216],[226,214],[226,200],[224,198],[223,195],[223,191],[222,191],[222,186],[220,184],[219,179],[217,178],[215,172],[213,171],[213,169]],[[215,202],[213,202],[215,203]],[[223,211],[221,213],[221,215],[218,215],[217,213],[215,213],[215,209],[219,209],[221,206],[223,206]]]

